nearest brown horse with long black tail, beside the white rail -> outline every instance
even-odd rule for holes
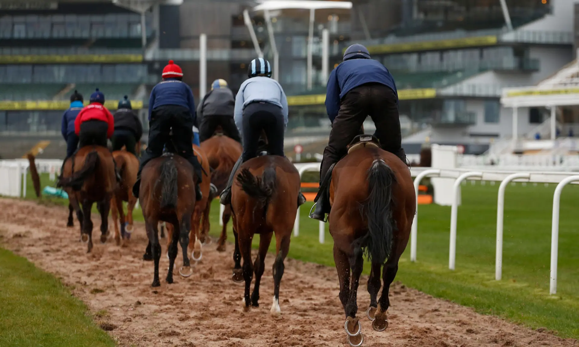
[[[410,170],[400,158],[380,149],[377,143],[373,136],[356,136],[348,154],[331,172],[329,184],[332,207],[329,232],[334,239],[339,298],[346,313],[345,330],[351,346],[360,346],[364,341],[360,318],[356,317],[363,256],[372,264],[368,279],[370,305],[366,313],[374,330],[383,331],[388,327],[390,284],[398,271],[398,260],[408,243],[416,213]],[[384,288],[377,301],[383,265]],[[357,331],[352,333],[356,326]]]

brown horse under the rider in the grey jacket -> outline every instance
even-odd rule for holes
[[[201,142],[201,148],[207,153],[209,166],[213,170],[211,172],[211,183],[215,184],[218,194],[221,194],[227,186],[227,180],[229,179],[233,165],[235,165],[235,162],[241,156],[243,150],[241,144],[221,133],[217,133],[217,135]],[[230,217],[231,206],[228,205],[225,206],[225,211],[223,212],[223,228],[221,230],[221,237],[219,237],[219,241],[217,242],[217,250],[219,252],[225,252],[227,223]]]

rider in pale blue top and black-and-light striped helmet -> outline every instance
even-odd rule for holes
[[[227,187],[221,193],[221,204],[231,202],[233,176],[241,164],[255,157],[258,151],[259,135],[265,131],[269,154],[284,155],[284,131],[288,121],[288,102],[283,88],[271,79],[272,68],[263,58],[251,61],[248,68],[249,79],[239,87],[235,99],[235,124],[243,134],[243,154],[235,163]],[[302,193],[298,196],[298,206],[306,202]]]

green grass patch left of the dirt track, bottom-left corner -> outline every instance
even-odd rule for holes
[[[58,279],[0,248],[0,346],[115,346]]]

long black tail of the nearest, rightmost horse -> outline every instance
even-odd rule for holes
[[[394,172],[384,160],[374,160],[368,169],[368,199],[363,204],[368,233],[357,240],[372,263],[384,264],[392,249],[395,228],[392,186],[395,182]]]

